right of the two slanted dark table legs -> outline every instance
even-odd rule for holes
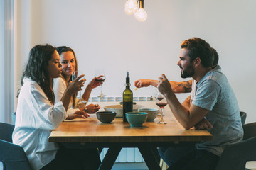
[[[152,152],[149,147],[139,147],[139,152],[141,152],[142,157],[145,160],[146,166],[148,166],[149,170],[161,170],[159,166],[159,160],[154,156],[154,152]]]

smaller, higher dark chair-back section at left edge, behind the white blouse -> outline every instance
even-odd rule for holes
[[[12,132],[14,131],[14,125],[8,123],[0,123],[0,139],[8,142],[12,142]]]

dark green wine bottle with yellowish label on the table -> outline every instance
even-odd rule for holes
[[[126,77],[126,85],[125,90],[123,92],[123,122],[127,122],[127,118],[125,113],[132,112],[132,101],[133,101],[133,94],[130,89],[130,81],[129,81],[129,72],[127,72]]]

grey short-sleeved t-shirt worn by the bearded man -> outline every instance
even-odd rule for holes
[[[242,140],[238,101],[219,66],[208,72],[197,84],[193,82],[191,101],[193,105],[209,111],[205,118],[213,125],[208,131],[214,140],[196,144],[197,149],[220,156],[226,146]]]

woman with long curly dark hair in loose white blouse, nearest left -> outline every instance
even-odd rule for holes
[[[70,98],[85,82],[81,79],[83,75],[75,79],[55,103],[53,78],[60,77],[61,72],[55,47],[36,45],[31,49],[18,95],[13,142],[23,147],[32,169],[82,169],[81,160],[70,157],[69,149],[48,142],[50,132],[69,119],[66,111]],[[87,116],[87,113],[80,114],[83,118]]]

